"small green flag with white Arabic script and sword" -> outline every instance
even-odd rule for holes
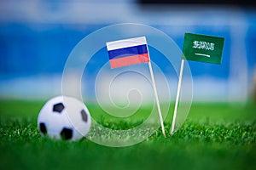
[[[224,37],[185,33],[182,59],[220,65],[223,48]]]

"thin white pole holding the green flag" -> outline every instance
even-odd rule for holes
[[[177,95],[176,95],[176,102],[175,102],[175,108],[174,108],[174,113],[172,117],[172,128],[171,128],[171,134],[174,133],[174,126],[176,122],[176,116],[177,116],[177,105],[179,101],[179,94],[180,94],[180,89],[181,89],[181,82],[183,79],[183,67],[184,67],[184,60],[181,60],[181,65],[180,65],[180,71],[179,71],[179,77],[178,77],[178,84],[177,84]]]

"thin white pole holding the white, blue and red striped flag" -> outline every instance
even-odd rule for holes
[[[149,54],[148,54],[148,57],[149,57]],[[153,73],[150,58],[149,58],[148,66],[149,66],[150,76],[151,76],[152,85],[153,85],[153,89],[154,89],[154,97],[155,97],[155,100],[156,100],[158,114],[159,114],[159,117],[160,117],[160,124],[161,124],[161,128],[162,128],[162,133],[164,134],[164,136],[166,138],[166,131],[165,131],[165,126],[164,126],[162,113],[161,113],[161,110],[160,110],[160,102],[159,102],[159,99],[158,99],[157,90],[156,90],[156,86],[155,86],[155,82],[154,82],[154,73]]]

